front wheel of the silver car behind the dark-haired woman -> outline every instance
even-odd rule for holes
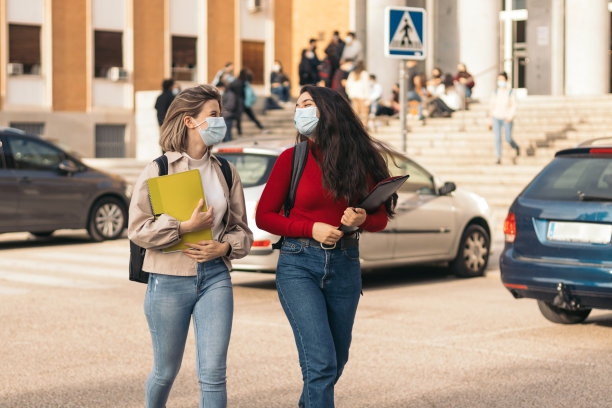
[[[472,224],[463,232],[457,257],[451,270],[457,277],[483,276],[489,261],[489,234],[480,225]]]

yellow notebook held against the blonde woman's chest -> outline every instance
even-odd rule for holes
[[[204,199],[202,211],[208,211],[206,198],[202,188],[202,178],[199,170],[189,170],[167,176],[152,177],[148,180],[149,197],[155,218],[168,214],[179,221],[191,218],[193,210],[200,199]],[[212,230],[188,232],[183,234],[180,242],[165,248],[164,252],[188,249],[185,243],[196,244],[198,241],[212,240]]]

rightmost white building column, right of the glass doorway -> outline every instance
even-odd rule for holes
[[[565,2],[565,93],[603,95],[610,86],[608,0]]]

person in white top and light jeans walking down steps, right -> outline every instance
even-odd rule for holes
[[[500,72],[497,76],[497,89],[491,96],[489,129],[493,129],[495,137],[495,155],[497,164],[501,164],[501,130],[504,129],[506,141],[520,155],[520,148],[512,138],[512,124],[516,113],[516,95],[508,84],[508,74]],[[516,159],[515,159],[516,160]]]

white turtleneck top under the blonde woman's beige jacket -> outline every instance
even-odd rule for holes
[[[223,215],[227,211],[227,201],[223,194],[221,180],[219,180],[219,176],[213,168],[214,163],[210,158],[210,150],[207,150],[204,156],[199,160],[191,158],[187,153],[183,153],[183,156],[187,157],[189,170],[200,170],[204,197],[206,198],[206,207],[213,208],[213,239],[219,241],[221,233],[223,232]]]

